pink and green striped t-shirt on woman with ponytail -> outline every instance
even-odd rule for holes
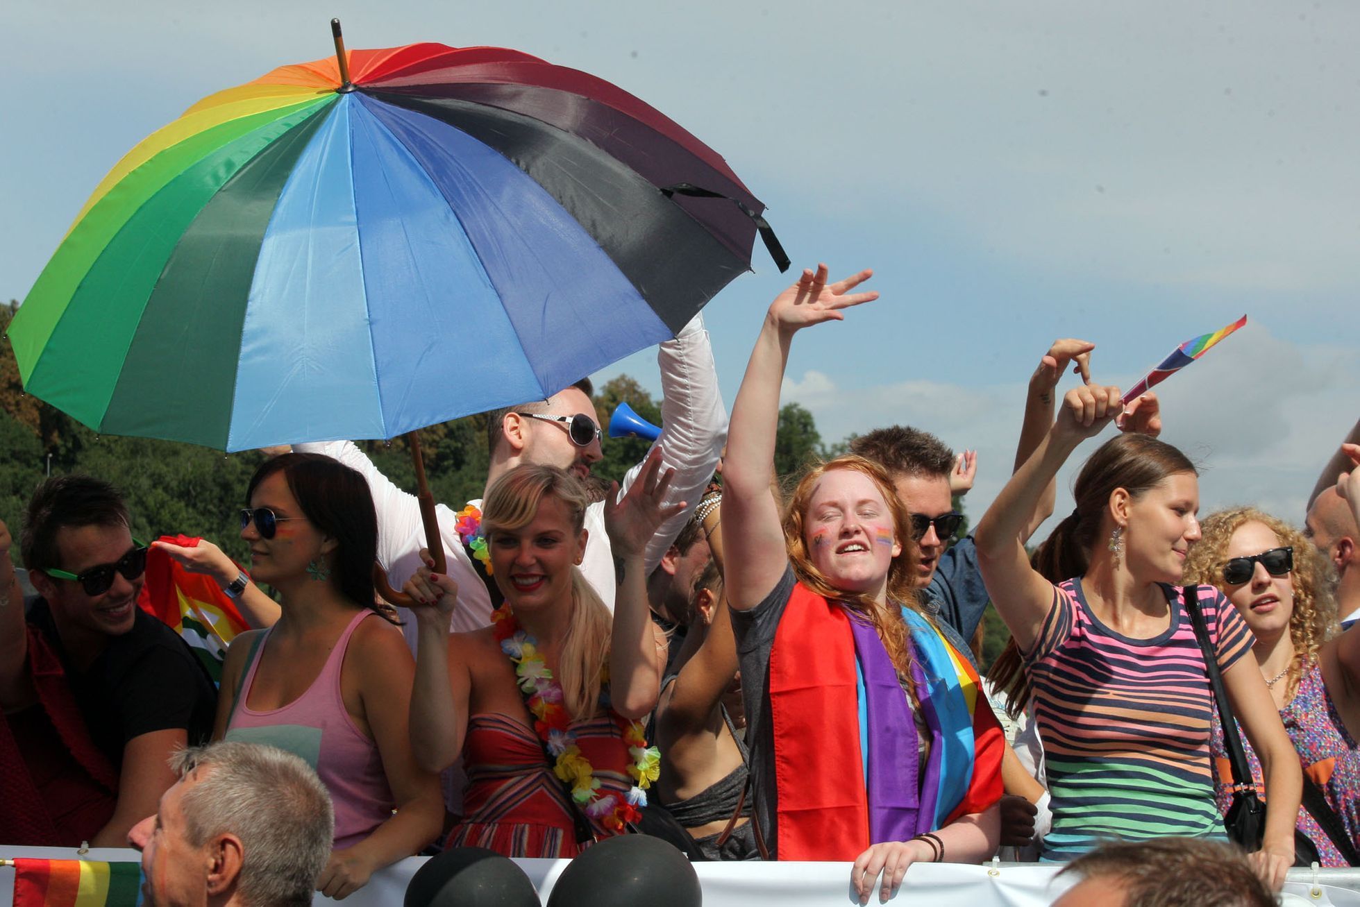
[[[1251,631],[1212,586],[1183,592],[1198,596],[1227,672],[1251,650]],[[1213,696],[1179,598],[1168,594],[1164,632],[1132,639],[1096,619],[1080,579],[1054,586],[1025,654],[1053,797],[1043,859],[1072,859],[1107,838],[1224,835],[1209,766]]]

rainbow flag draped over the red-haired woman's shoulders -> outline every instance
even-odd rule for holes
[[[853,861],[1001,797],[1004,737],[972,665],[917,612],[913,679],[929,753],[877,632],[802,583],[770,651],[775,850]]]

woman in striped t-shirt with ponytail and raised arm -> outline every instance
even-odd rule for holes
[[[1020,541],[1039,491],[1073,450],[1121,416],[1126,434],[1077,476],[1077,507],[1031,567]],[[1153,394],[1129,411],[1117,388],[1070,390],[1049,435],[978,525],[978,560],[1030,674],[1047,757],[1044,859],[1106,838],[1221,838],[1209,767],[1213,696],[1185,611],[1198,601],[1239,723],[1261,756],[1270,809],[1253,863],[1278,888],[1293,862],[1300,774],[1254,660],[1251,634],[1209,586],[1178,587],[1200,537],[1194,465],[1151,437]],[[1047,578],[1046,578],[1047,577]],[[1059,577],[1073,577],[1054,583]]]

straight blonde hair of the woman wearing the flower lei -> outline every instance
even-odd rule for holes
[[[545,498],[555,498],[566,506],[571,528],[579,536],[586,524],[586,507],[590,506],[585,484],[556,466],[526,464],[509,470],[487,490],[487,499],[481,504],[487,544],[494,544],[498,532],[528,526]],[[496,574],[498,583],[505,579]],[[562,684],[563,704],[571,719],[582,721],[600,708],[601,677],[609,657],[613,617],[578,567],[571,567],[570,608],[571,620],[562,640],[556,679]]]

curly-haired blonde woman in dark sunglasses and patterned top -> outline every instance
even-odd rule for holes
[[[1334,635],[1336,602],[1325,571],[1302,532],[1254,507],[1205,519],[1204,537],[1186,560],[1186,582],[1216,586],[1251,628],[1251,651],[1299,752],[1304,783],[1321,790],[1350,847],[1360,849],[1360,703],[1353,695],[1360,688],[1360,634]],[[1227,812],[1232,774],[1217,721],[1213,732],[1219,809]],[[1243,744],[1263,789],[1261,763]],[[1323,866],[1350,865],[1310,809],[1299,810],[1297,829]]]

